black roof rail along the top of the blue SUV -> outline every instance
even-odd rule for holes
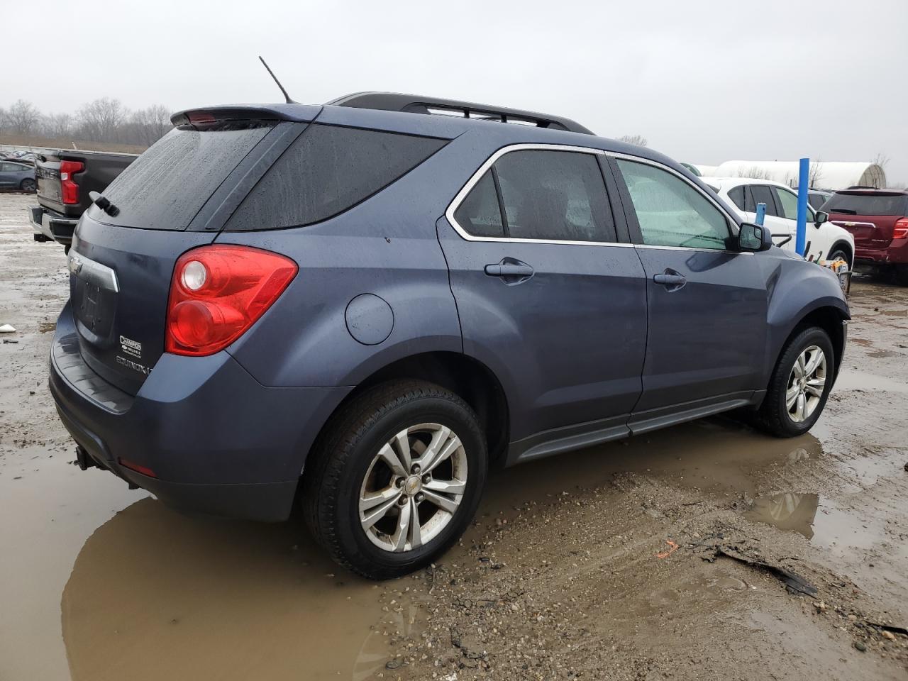
[[[501,123],[523,123],[536,125],[550,130],[568,130],[571,133],[593,134],[591,130],[576,121],[561,116],[537,114],[532,111],[508,109],[489,104],[459,102],[453,99],[424,97],[419,94],[398,93],[354,93],[328,102],[334,106],[352,106],[358,109],[380,109],[382,111],[402,111],[410,114],[441,114],[463,118],[475,118],[482,121],[500,121]]]

